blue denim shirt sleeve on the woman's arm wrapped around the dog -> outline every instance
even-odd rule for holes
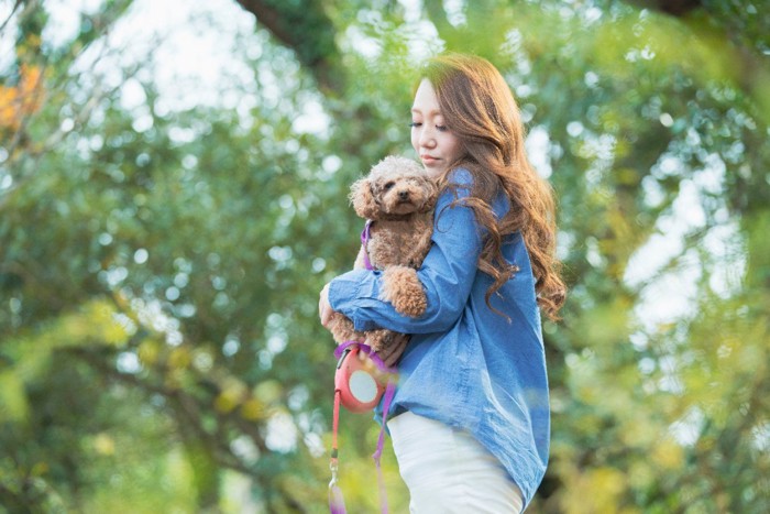
[[[459,198],[468,196],[459,187]],[[471,294],[482,250],[480,226],[470,207],[451,206],[455,194],[446,189],[436,206],[431,249],[417,276],[428,307],[418,318],[403,316],[380,299],[382,272],[354,270],[331,281],[329,304],[353,321],[356,330],[388,328],[403,333],[446,331],[462,315]]]

